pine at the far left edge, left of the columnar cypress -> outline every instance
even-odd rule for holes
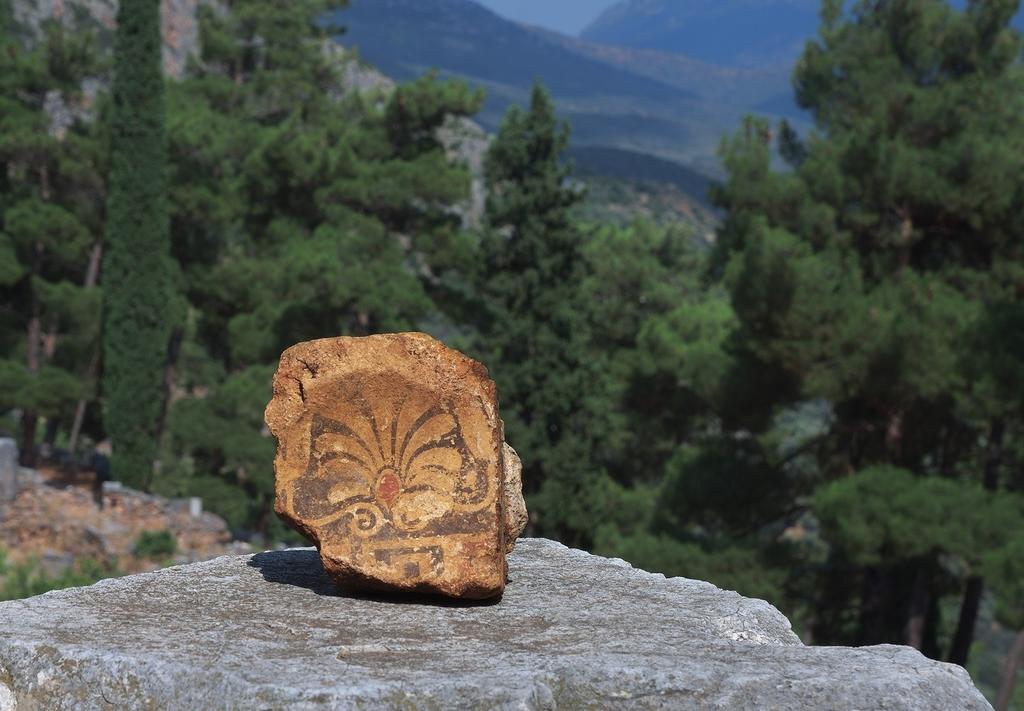
[[[90,33],[48,23],[31,48],[0,37],[0,408],[22,412],[27,465],[40,418],[55,435],[89,386],[78,364],[98,335],[103,155],[82,82],[99,72]]]

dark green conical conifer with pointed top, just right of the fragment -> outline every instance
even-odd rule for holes
[[[584,235],[571,210],[582,194],[565,163],[568,126],[535,86],[512,108],[487,152],[487,233],[477,293],[479,352],[496,381],[510,443],[540,530],[587,542],[602,492],[590,456],[588,324],[581,299]],[[593,377],[592,377],[593,376]]]

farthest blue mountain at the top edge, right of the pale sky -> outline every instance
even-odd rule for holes
[[[788,66],[818,27],[820,0],[624,0],[581,34],[734,68]]]

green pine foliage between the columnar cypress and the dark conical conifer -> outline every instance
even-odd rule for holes
[[[202,495],[239,533],[280,535],[270,375],[295,342],[409,331],[460,308],[466,168],[437,138],[481,96],[428,75],[344,90],[330,3],[204,10],[169,93],[171,233],[187,312],[159,491]],[[259,47],[253,51],[252,47]]]

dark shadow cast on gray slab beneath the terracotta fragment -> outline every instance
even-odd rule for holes
[[[294,585],[328,597],[350,597],[392,604],[426,604],[438,608],[479,608],[497,604],[501,598],[462,600],[410,592],[351,592],[340,589],[324,571],[319,553],[312,549],[268,550],[249,560],[268,583]]]

